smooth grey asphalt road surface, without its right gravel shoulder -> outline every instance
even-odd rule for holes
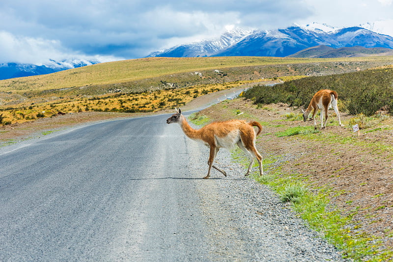
[[[168,116],[104,122],[0,153],[0,261],[207,257],[193,156]]]

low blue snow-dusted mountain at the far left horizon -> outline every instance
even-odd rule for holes
[[[0,80],[51,74],[62,70],[101,63],[99,60],[64,59],[49,60],[43,64],[0,63]]]

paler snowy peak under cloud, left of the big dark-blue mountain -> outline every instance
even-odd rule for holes
[[[201,40],[190,44],[174,46],[172,48],[152,52],[147,57],[198,57],[211,56],[217,52],[225,50],[231,45],[239,42],[246,36],[250,35],[253,29],[232,29],[226,31],[223,35],[216,39]]]

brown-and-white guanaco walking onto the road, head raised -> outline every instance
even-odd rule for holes
[[[223,173],[226,177],[225,171],[213,164],[214,158],[220,148],[232,149],[235,145],[238,145],[240,149],[251,157],[251,163],[245,176],[250,174],[254,157],[259,163],[259,173],[261,176],[263,175],[262,156],[255,148],[255,136],[262,130],[262,126],[258,122],[251,121],[250,123],[247,123],[243,120],[229,120],[225,122],[214,122],[202,127],[201,129],[195,130],[188,124],[179,108],[176,109],[175,114],[167,119],[167,124],[171,123],[178,123],[183,132],[189,138],[201,141],[204,145],[210,148],[209,160],[207,161],[209,170],[207,171],[207,176],[205,176],[204,179],[208,179],[210,177],[210,170],[212,167]],[[253,127],[258,128],[256,135]]]

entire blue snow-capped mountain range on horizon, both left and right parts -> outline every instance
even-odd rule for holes
[[[390,23],[390,22],[389,22]],[[285,57],[307,48],[324,45],[334,49],[361,46],[393,49],[393,37],[387,32],[389,23],[367,23],[365,27],[334,27],[326,24],[294,24],[287,28],[260,30],[232,28],[220,37],[181,44],[166,50],[151,52],[146,57],[205,57],[205,56],[278,56]],[[392,20],[393,25],[393,20]],[[376,30],[378,32],[372,31]],[[360,52],[366,53],[366,52]],[[358,55],[360,54],[358,52]],[[99,59],[49,60],[41,64],[0,63],[0,79],[36,76],[93,65]]]

